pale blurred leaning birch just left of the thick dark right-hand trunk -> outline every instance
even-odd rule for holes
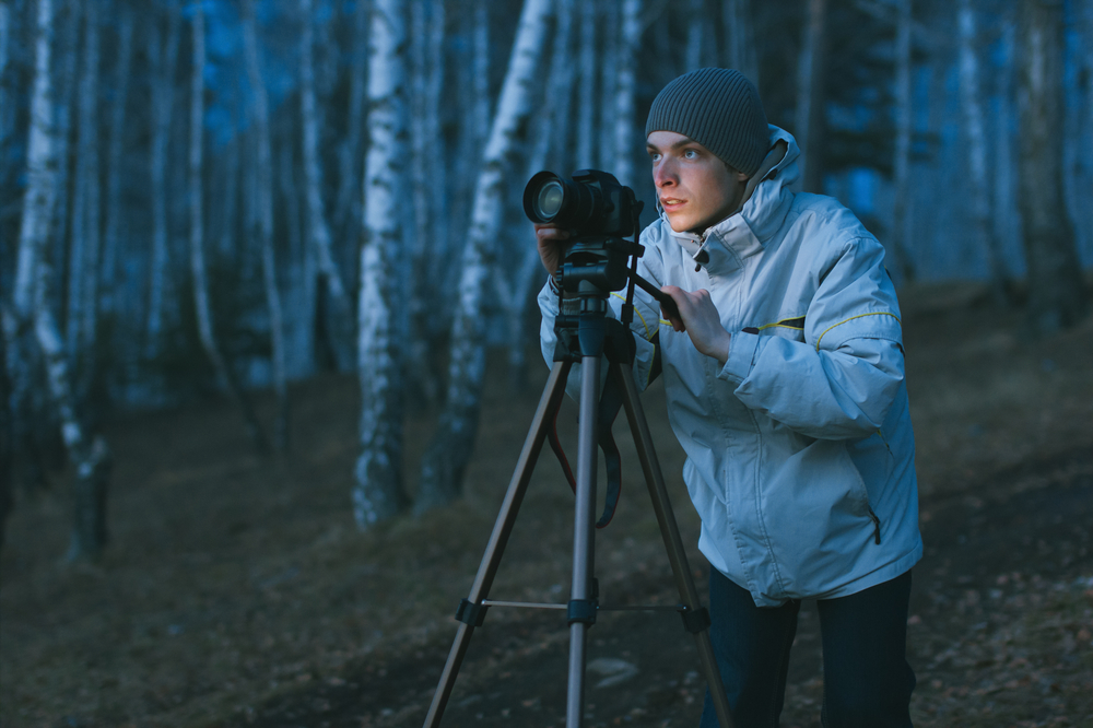
[[[979,96],[979,59],[976,56],[975,11],[971,0],[957,5],[960,27],[960,86],[964,138],[967,142],[971,173],[972,221],[976,243],[987,263],[987,277],[997,305],[1007,303],[1006,268],[998,240],[990,227],[990,202],[987,196],[987,140],[983,124],[983,102]]]

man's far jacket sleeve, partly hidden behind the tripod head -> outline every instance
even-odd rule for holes
[[[638,260],[638,274],[650,283],[660,287],[660,277],[658,272],[662,270],[659,251],[655,248],[646,247],[646,254]],[[608,316],[619,318],[622,313],[622,305],[626,300],[626,290],[616,291],[608,296]],[[559,315],[557,294],[553,291],[548,280],[539,292],[539,310],[542,313],[542,324],[539,328],[539,342],[542,349],[543,359],[548,364],[554,360],[554,345],[557,341],[554,333],[554,320]],[[640,289],[634,291],[634,320],[631,322],[631,330],[634,332],[634,342],[637,351],[634,356],[634,383],[639,390],[644,390],[648,385],[653,372],[653,362],[656,356],[656,344],[654,337],[660,326],[660,304],[653,296]],[[602,376],[607,377],[607,366],[601,366]],[[602,384],[602,383],[601,383]],[[574,399],[580,391],[580,364],[575,364],[569,372],[566,383],[566,392]]]

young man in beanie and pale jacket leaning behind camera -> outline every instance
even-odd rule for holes
[[[635,378],[647,381],[659,348],[734,723],[777,726],[800,601],[812,598],[824,725],[909,726],[907,601],[922,542],[883,249],[838,202],[798,191],[794,138],[767,126],[736,71],[669,83],[646,134],[661,214],[642,233],[639,272],[679,317],[661,320],[636,295]],[[536,232],[553,272],[568,234]],[[553,280],[539,304],[550,359]],[[702,726],[716,724],[707,696]]]

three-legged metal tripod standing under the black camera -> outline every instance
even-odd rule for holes
[[[636,262],[636,261],[635,261]],[[635,265],[636,267],[636,265]],[[632,280],[637,278],[636,273]],[[644,281],[643,281],[644,283]],[[644,287],[644,286],[643,286]],[[659,291],[657,291],[659,293]],[[722,728],[731,728],[729,703],[725,695],[714,648],[709,639],[709,613],[698,602],[697,590],[687,566],[679,526],[668,498],[663,474],[653,448],[653,437],[638,399],[634,384],[632,365],[634,362],[633,334],[619,320],[608,318],[607,293],[589,281],[579,284],[580,309],[577,316],[559,316],[555,330],[559,331],[559,347],[554,364],[543,389],[534,420],[528,431],[524,449],[494,524],[478,575],[470,595],[463,599],[456,612],[459,626],[448,654],[440,681],[433,695],[433,703],[425,716],[425,728],[439,726],[444,708],[451,695],[456,676],[467,654],[474,629],[481,626],[485,612],[491,606],[524,606],[565,609],[569,624],[569,671],[566,702],[566,727],[579,728],[584,720],[585,704],[585,655],[588,629],[596,622],[600,609],[593,578],[595,508],[596,508],[596,435],[598,432],[598,404],[600,395],[600,367],[606,355],[609,363],[608,376],[621,387],[623,407],[630,422],[638,459],[653,498],[653,509],[660,526],[660,533],[668,551],[680,594],[677,608],[683,618],[683,625],[691,632],[698,647],[702,670],[709,685],[717,718]],[[633,285],[631,286],[631,296]],[[627,302],[627,305],[630,303]],[[624,319],[626,316],[624,316]],[[494,576],[501,564],[502,554],[516,522],[517,512],[524,501],[531,480],[536,460],[546,438],[548,428],[562,402],[565,383],[573,364],[580,362],[580,397],[576,473],[576,506],[573,536],[573,583],[567,604],[521,604],[498,602],[487,598]]]

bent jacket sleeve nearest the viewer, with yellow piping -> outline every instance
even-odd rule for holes
[[[871,237],[851,240],[819,278],[803,342],[733,332],[718,376],[749,408],[801,434],[867,437],[904,379],[900,308],[883,248]]]

